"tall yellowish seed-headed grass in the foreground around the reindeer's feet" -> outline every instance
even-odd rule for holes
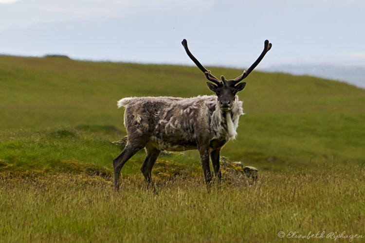
[[[223,182],[210,193],[200,176],[155,179],[157,195],[135,176],[114,193],[111,178],[99,176],[3,175],[2,241],[279,242],[280,231],[365,237],[365,170],[359,166],[263,172],[253,185]]]

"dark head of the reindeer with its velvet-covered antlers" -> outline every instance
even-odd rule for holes
[[[204,72],[205,77],[212,83],[207,82],[207,85],[210,90],[216,93],[218,96],[218,102],[219,107],[223,111],[229,111],[232,109],[234,102],[236,100],[236,94],[238,91],[241,91],[245,86],[246,82],[241,82],[244,78],[246,78],[250,72],[256,68],[256,66],[260,63],[262,58],[264,58],[266,52],[268,52],[271,49],[271,43],[269,43],[268,40],[265,40],[264,43],[264,50],[262,51],[261,55],[257,58],[256,62],[251,65],[251,67],[247,70],[244,70],[242,75],[238,76],[236,79],[226,80],[224,76],[221,76],[219,80],[213,74],[210,73],[207,69],[205,69],[201,63],[191,54],[187,47],[187,41],[183,39],[183,47],[185,48],[185,51],[187,55],[193,60],[193,62],[198,66],[199,69],[201,69],[202,72]]]

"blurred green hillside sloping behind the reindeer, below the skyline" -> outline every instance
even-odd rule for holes
[[[242,71],[210,69],[227,78]],[[240,118],[237,140],[230,141],[222,155],[274,170],[364,162],[365,90],[308,76],[257,71],[246,82],[239,93],[246,115]],[[14,132],[32,144],[32,132],[83,126],[114,127],[120,132],[110,139],[118,139],[125,128],[124,110],[116,108],[116,101],[123,97],[211,94],[195,67],[52,57],[0,56],[0,86],[2,143],[9,142]],[[110,152],[109,159],[116,153]]]

